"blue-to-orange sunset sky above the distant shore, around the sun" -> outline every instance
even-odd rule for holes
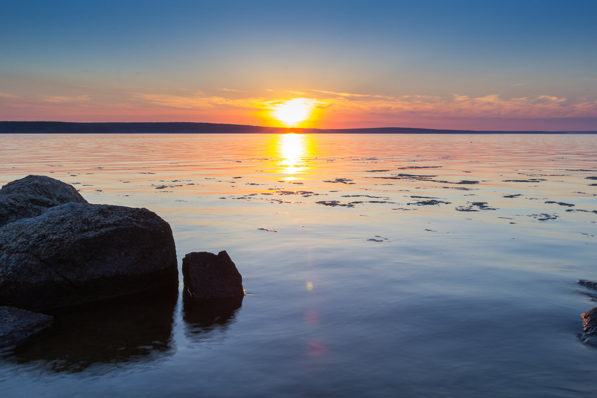
[[[597,1],[0,0],[0,120],[597,130]]]

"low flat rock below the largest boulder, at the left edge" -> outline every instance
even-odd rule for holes
[[[0,347],[23,343],[49,328],[54,317],[19,308],[0,307]]]

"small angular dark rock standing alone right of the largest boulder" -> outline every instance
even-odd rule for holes
[[[243,297],[242,276],[225,250],[192,252],[183,258],[183,283],[194,298]]]

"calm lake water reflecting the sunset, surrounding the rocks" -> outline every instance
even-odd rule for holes
[[[248,295],[64,314],[2,396],[597,394],[597,135],[0,135],[27,174],[155,211],[179,264],[226,249]]]

